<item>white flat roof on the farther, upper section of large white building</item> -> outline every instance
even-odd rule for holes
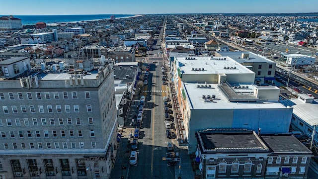
[[[182,74],[254,74],[254,72],[229,57],[213,57],[212,59],[211,57],[175,58],[176,61],[179,62],[178,66]],[[185,58],[187,58],[187,60]],[[195,59],[188,60],[188,58]],[[225,67],[229,67],[229,69],[225,69]],[[192,68],[201,68],[201,71],[193,71]],[[202,71],[202,68],[204,68],[204,71]]]

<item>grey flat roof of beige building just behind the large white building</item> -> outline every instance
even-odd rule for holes
[[[239,63],[275,63],[266,57],[252,52],[216,52],[223,57],[230,57]],[[243,54],[243,55],[242,55]]]

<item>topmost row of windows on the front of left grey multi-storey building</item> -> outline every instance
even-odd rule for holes
[[[34,95],[34,94],[33,94]],[[8,99],[10,100],[23,100],[24,97],[27,99],[60,99],[63,97],[63,99],[69,99],[72,97],[72,99],[78,99],[78,94],[76,91],[72,91],[71,96],[69,97],[69,94],[67,91],[63,91],[62,94],[60,94],[58,91],[54,91],[53,95],[50,94],[50,92],[35,92],[35,96],[32,95],[32,92],[26,92],[26,96],[23,96],[22,92],[18,93],[13,93],[13,92],[8,92]],[[0,92],[0,100],[5,100],[6,96],[4,95],[3,92]],[[85,91],[85,99],[90,99],[90,94],[89,91]]]

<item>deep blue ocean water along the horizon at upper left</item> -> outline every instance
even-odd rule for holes
[[[35,24],[37,22],[56,23],[82,20],[109,19],[111,15],[119,17],[132,17],[134,14],[90,14],[90,15],[13,15],[22,20],[22,24]],[[3,16],[3,15],[0,15]]]

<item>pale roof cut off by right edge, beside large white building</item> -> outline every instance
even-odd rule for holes
[[[311,126],[318,125],[318,100],[313,103],[304,103],[300,99],[290,99],[296,105],[293,105],[293,114],[301,118]]]

